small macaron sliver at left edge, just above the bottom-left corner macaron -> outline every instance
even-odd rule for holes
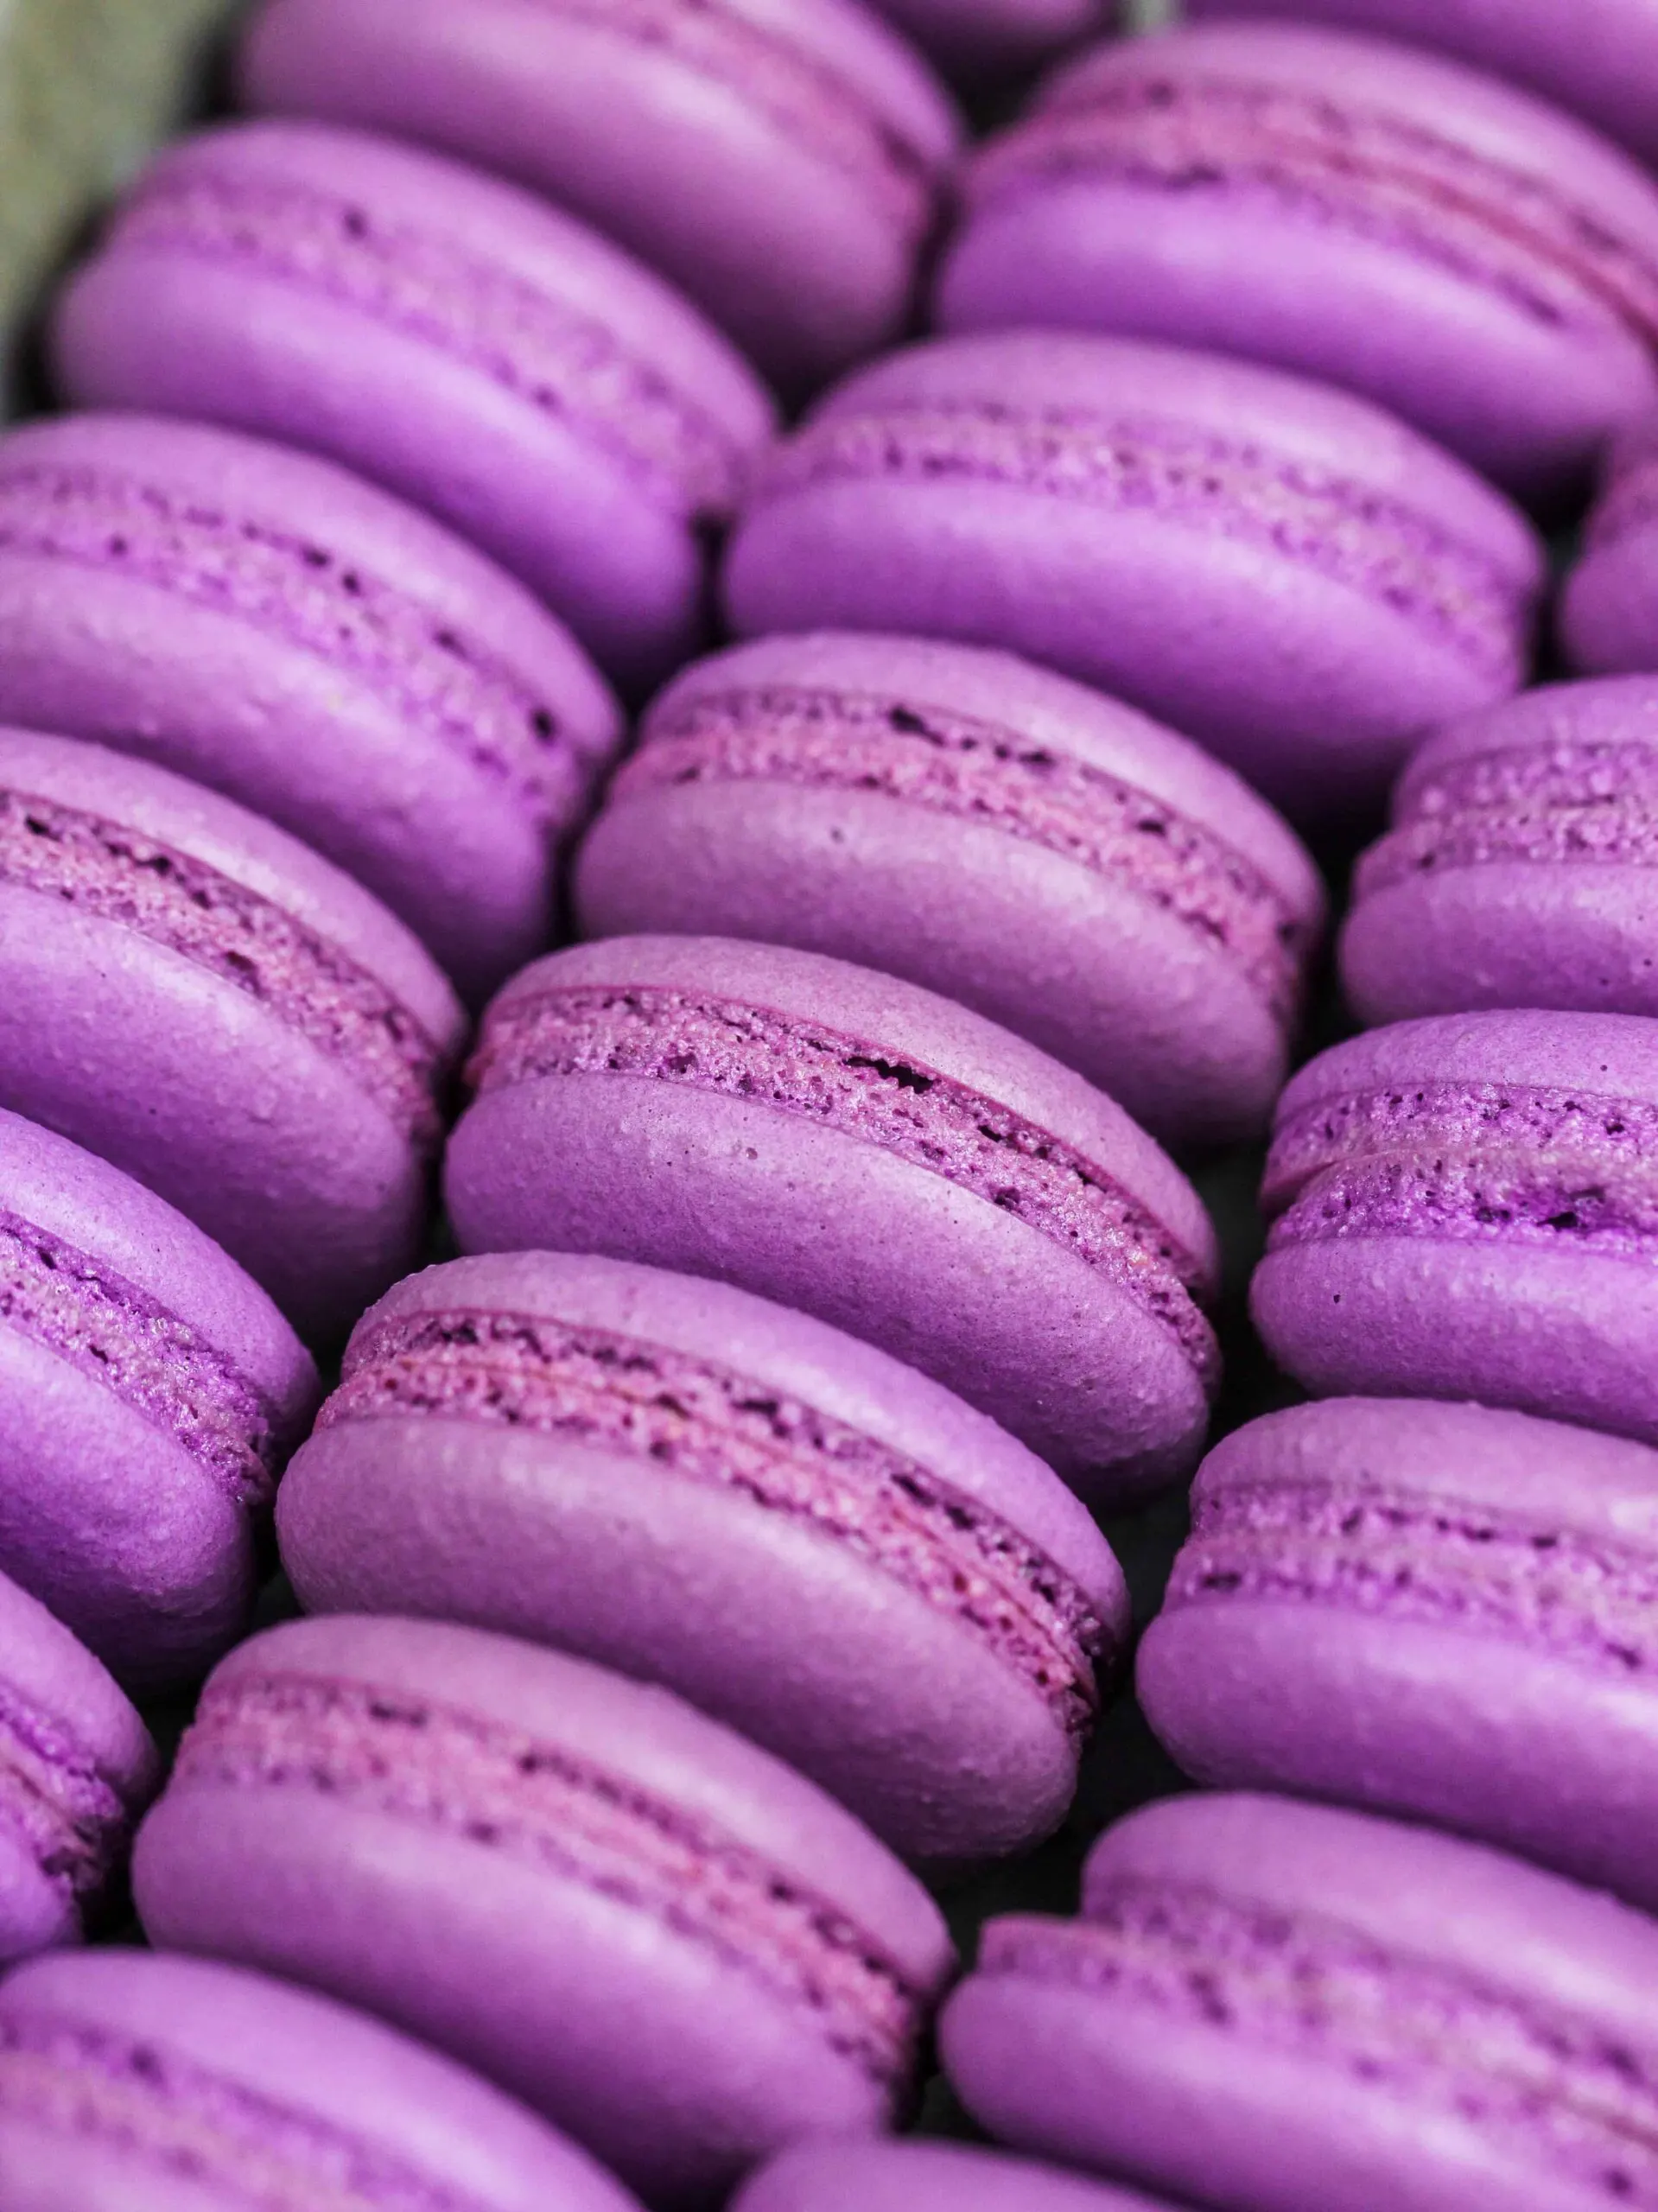
[[[80,1940],[159,1778],[113,1677],[0,1575],[0,1966]]]

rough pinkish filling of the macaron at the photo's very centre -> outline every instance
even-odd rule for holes
[[[1099,1267],[1218,1378],[1187,1287],[1200,1263],[1103,1168],[966,1084],[727,998],[575,984],[497,1000],[469,1068],[478,1095],[570,1075],[763,1102],[942,1175]]]

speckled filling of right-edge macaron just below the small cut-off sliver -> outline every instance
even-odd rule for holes
[[[1446,761],[1360,860],[1357,898],[1459,867],[1543,860],[1658,867],[1658,757],[1620,745],[1525,745]]]

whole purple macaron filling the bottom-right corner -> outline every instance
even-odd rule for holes
[[[1481,1845],[1262,1796],[1094,1847],[944,2011],[1006,2141],[1238,2212],[1658,2199],[1658,1927]]]

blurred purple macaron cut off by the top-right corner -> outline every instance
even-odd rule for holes
[[[1196,20],[1284,15],[1439,46],[1574,108],[1645,161],[1658,159],[1654,0],[1185,0]]]

